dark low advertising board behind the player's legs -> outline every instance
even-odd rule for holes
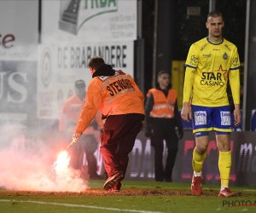
[[[233,132],[230,135],[232,166],[230,173],[231,186],[256,186],[256,132]],[[192,153],[195,137],[192,130],[184,130],[184,136],[178,144],[178,153],[174,166],[172,181],[188,182],[192,179]],[[163,155],[166,161],[166,147]],[[210,134],[207,158],[203,164],[202,183],[219,184],[218,148],[215,135]],[[154,148],[150,140],[141,131],[135,146],[130,153],[126,180],[154,180]]]

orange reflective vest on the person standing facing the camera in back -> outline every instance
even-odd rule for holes
[[[169,89],[166,95],[160,89],[149,89],[148,95],[152,93],[154,106],[150,112],[152,118],[174,118],[174,108],[177,100],[177,91]]]

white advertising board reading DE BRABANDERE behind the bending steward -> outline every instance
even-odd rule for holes
[[[93,56],[133,75],[133,41],[41,44],[38,52],[38,118],[59,118],[62,103],[74,93],[74,82],[90,82],[88,62]]]

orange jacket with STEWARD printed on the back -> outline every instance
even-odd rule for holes
[[[144,95],[131,75],[116,71],[113,76],[94,77],[87,89],[85,107],[82,110],[76,132],[82,133],[99,109],[104,116],[144,111]]]

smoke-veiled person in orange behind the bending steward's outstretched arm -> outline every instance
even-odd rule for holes
[[[72,138],[73,131],[76,128],[76,124],[79,121],[80,113],[85,104],[85,83],[84,80],[77,80],[75,82],[75,95],[69,97],[61,107],[59,130],[67,131],[68,137]],[[97,174],[97,162],[94,153],[98,147],[96,141],[96,131],[102,130],[103,122],[100,112],[96,113],[95,118],[92,119],[90,126],[84,131],[82,135],[81,143],[75,144],[68,150],[70,153],[70,164],[73,169],[82,170],[84,153],[86,154],[86,160],[88,163],[88,174],[90,179],[103,179],[104,176]],[[69,139],[71,140],[71,139]]]

